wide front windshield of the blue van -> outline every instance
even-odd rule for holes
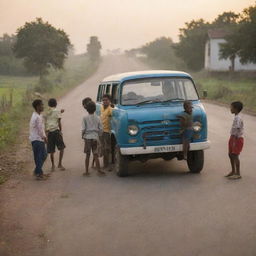
[[[151,78],[124,82],[122,105],[198,100],[193,82],[188,78]]]

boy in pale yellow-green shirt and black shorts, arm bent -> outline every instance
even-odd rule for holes
[[[47,111],[45,115],[46,119],[46,133],[47,133],[47,152],[51,156],[51,163],[52,163],[52,171],[55,170],[55,163],[54,163],[54,153],[55,147],[57,146],[58,150],[60,151],[59,154],[59,163],[58,168],[62,171],[65,168],[62,165],[62,159],[64,155],[64,148],[66,147],[63,141],[62,136],[62,126],[61,126],[61,113],[64,110],[57,110],[57,101],[56,99],[52,98],[48,101],[48,106],[50,109]]]

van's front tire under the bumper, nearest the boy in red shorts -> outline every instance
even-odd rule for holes
[[[189,151],[187,164],[192,173],[200,173],[204,167],[204,151]]]

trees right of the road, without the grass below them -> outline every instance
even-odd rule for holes
[[[162,63],[164,67],[173,68],[176,63],[178,68],[199,71],[204,67],[208,31],[218,28],[227,31],[226,43],[221,45],[221,59],[230,59],[232,66],[236,56],[242,63],[256,63],[256,5],[244,9],[240,14],[224,12],[211,23],[203,19],[192,20],[180,29],[178,43],[162,37],[141,48],[127,51],[127,54],[140,52],[146,54],[147,61]]]

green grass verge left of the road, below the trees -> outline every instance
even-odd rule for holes
[[[8,100],[10,93],[13,94],[10,109],[1,111],[0,108],[0,153],[12,146],[19,131],[28,126],[33,111],[31,102],[37,97],[35,92],[41,93],[43,99],[61,97],[86,80],[97,67],[98,63],[91,63],[85,55],[78,55],[69,57],[63,70],[51,70],[42,84],[35,76],[0,76],[0,103],[3,96]]]

